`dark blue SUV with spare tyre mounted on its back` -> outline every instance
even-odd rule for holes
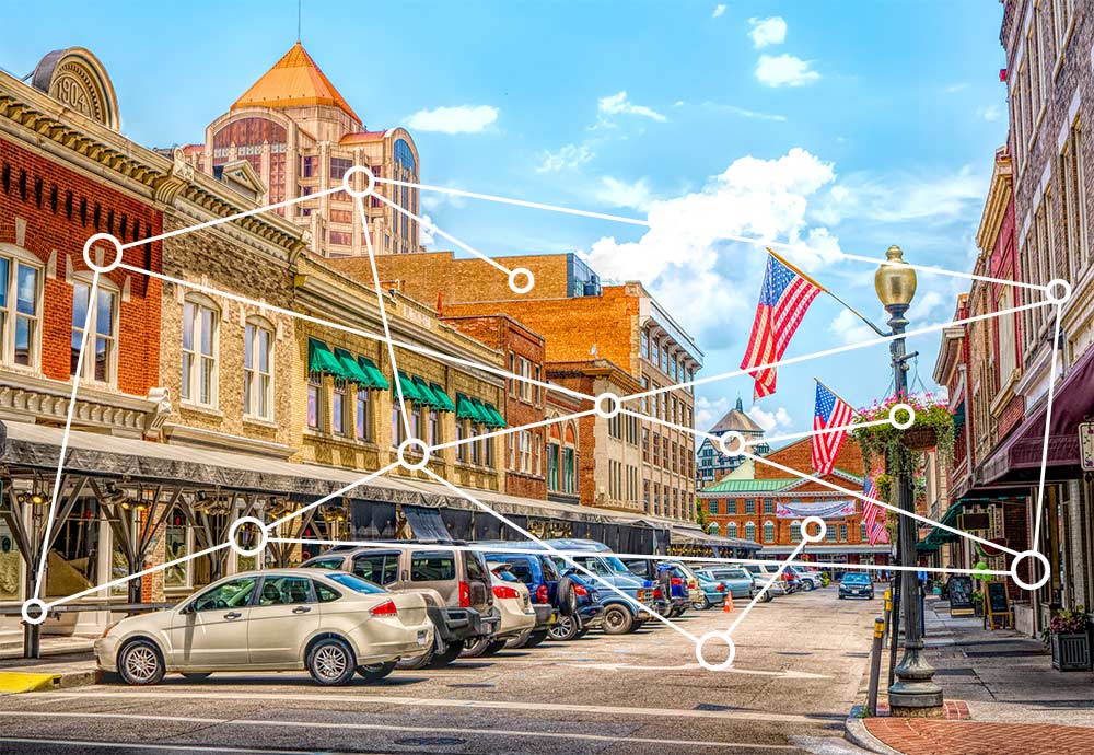
[[[476,543],[476,548],[488,561],[505,562],[509,570],[528,588],[536,609],[536,626],[527,635],[511,641],[514,648],[532,648],[551,637],[572,639],[582,629],[592,626],[604,608],[592,600],[585,581],[575,574],[561,577],[555,561],[547,554],[507,551],[512,543],[490,541]],[[493,550],[492,548],[498,548]],[[573,631],[569,626],[573,625]],[[556,631],[551,629],[565,625]]]

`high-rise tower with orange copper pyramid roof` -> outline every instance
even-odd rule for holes
[[[375,176],[418,183],[418,149],[403,128],[372,129],[330,82],[298,40],[272,68],[206,128],[205,143],[183,148],[197,170],[219,175],[246,160],[261,181],[256,194],[265,205],[312,197],[276,211],[311,231],[313,249],[325,257],[421,251],[418,221],[376,197],[361,201],[339,191],[353,165]],[[356,189],[365,177],[354,176]],[[419,191],[411,186],[377,184],[386,199],[415,216]],[[365,239],[365,231],[369,239]]]

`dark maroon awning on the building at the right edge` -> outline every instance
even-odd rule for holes
[[[980,467],[978,478],[985,484],[1006,481],[1014,473],[1039,469],[1045,444],[1045,417],[1048,402],[1043,400],[1011,437]],[[1094,413],[1094,349],[1073,364],[1056,386],[1052,419],[1048,426],[1046,466],[1079,466],[1079,423]]]

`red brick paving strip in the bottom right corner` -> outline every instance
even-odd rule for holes
[[[905,755],[1090,755],[1094,729],[1056,724],[874,718],[866,730]]]

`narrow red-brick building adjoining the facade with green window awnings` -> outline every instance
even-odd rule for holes
[[[500,351],[510,373],[546,382],[544,337],[509,315],[449,316],[441,317],[441,322]],[[542,425],[547,416],[547,393],[539,385],[510,379],[505,386],[505,422],[510,427]],[[550,427],[538,427],[505,435],[505,492],[547,498],[546,439],[550,431]]]

